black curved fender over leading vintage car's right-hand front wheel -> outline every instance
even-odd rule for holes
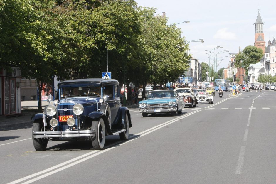
[[[102,118],[105,122],[105,129],[108,134],[112,134],[112,131],[109,127],[109,121],[105,116],[105,113],[102,111],[94,111],[88,114],[85,119],[83,120],[82,128],[87,129],[88,127],[92,126],[92,121],[99,121]]]

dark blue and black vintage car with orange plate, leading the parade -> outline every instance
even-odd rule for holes
[[[58,84],[58,100],[44,113],[33,115],[33,146],[46,150],[48,141],[87,140],[102,150],[105,136],[127,140],[132,127],[127,107],[121,107],[119,82],[114,79],[77,79]]]

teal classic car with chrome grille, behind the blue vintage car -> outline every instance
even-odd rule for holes
[[[183,97],[175,90],[154,90],[147,93],[147,100],[139,102],[139,112],[143,117],[148,114],[168,113],[175,116],[181,114],[185,106]]]

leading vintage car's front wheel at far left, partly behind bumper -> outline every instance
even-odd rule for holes
[[[34,131],[44,131],[43,121],[33,122],[33,132]],[[48,144],[48,139],[46,138],[33,138],[33,146],[36,151],[45,151]]]

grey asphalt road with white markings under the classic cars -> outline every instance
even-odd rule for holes
[[[275,183],[274,91],[243,92],[175,117],[130,109],[130,139],[49,142],[33,148],[31,127],[0,132],[0,183]]]

